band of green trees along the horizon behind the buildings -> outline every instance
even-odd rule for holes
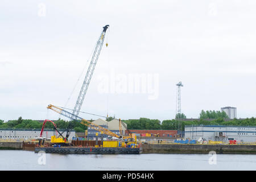
[[[84,132],[87,127],[79,122],[72,121],[73,129],[76,132]],[[130,130],[177,130],[178,124],[180,124],[180,130],[184,131],[186,125],[224,125],[224,126],[256,126],[255,118],[246,119],[232,119],[230,121],[225,121],[225,118],[217,118],[209,121],[208,119],[199,118],[194,121],[184,121],[180,119],[167,119],[160,122],[159,119],[128,119],[123,120],[127,123],[127,129]],[[59,119],[55,121],[58,129],[67,129],[69,121],[64,121]],[[17,120],[11,120],[8,122],[3,122],[0,120],[0,129],[42,129],[43,123],[38,121],[33,121],[32,119],[22,119],[19,117]],[[47,122],[45,125],[46,129],[53,129],[53,125]]]

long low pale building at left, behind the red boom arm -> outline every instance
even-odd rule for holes
[[[59,130],[64,131],[64,130]],[[14,139],[14,140],[28,140],[28,139],[36,139],[40,137],[41,130],[40,129],[0,129],[0,139]],[[51,139],[51,136],[55,135],[55,130],[44,130],[43,136],[44,138]],[[66,131],[63,135],[66,135]],[[71,131],[71,135],[69,135],[69,139],[75,137],[75,131]]]

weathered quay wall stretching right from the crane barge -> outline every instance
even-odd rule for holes
[[[256,154],[256,145],[142,144],[142,154]]]

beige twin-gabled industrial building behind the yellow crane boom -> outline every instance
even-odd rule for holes
[[[113,133],[120,135],[120,131],[119,131],[119,120],[118,119],[113,119],[112,121],[105,121],[104,119],[96,119],[95,121],[93,121],[92,123],[104,127],[110,131],[112,131]],[[123,126],[123,124],[125,126]],[[126,131],[126,127],[127,124],[126,123],[121,123],[121,128],[122,128],[122,133],[124,134]],[[106,134],[101,134],[100,132],[98,132],[97,130],[92,129],[91,127],[88,127],[88,139],[94,139],[96,138],[96,133],[98,133],[98,138],[101,138],[101,135],[104,139],[107,138],[112,138]]]

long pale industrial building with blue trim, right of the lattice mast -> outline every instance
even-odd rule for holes
[[[199,125],[185,126],[185,139],[204,138],[209,141],[237,140],[240,142],[255,142],[256,127],[252,126],[221,126],[221,125]]]

